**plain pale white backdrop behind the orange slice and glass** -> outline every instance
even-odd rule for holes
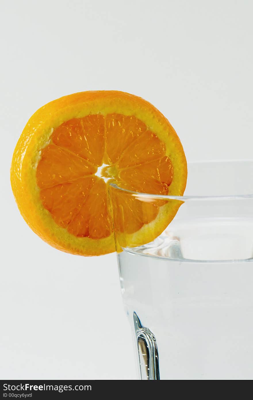
[[[252,158],[251,0],[1,2],[2,379],[135,379],[116,255],[42,242],[9,182],[28,118],[60,96],[115,89],[169,119],[189,161]]]

